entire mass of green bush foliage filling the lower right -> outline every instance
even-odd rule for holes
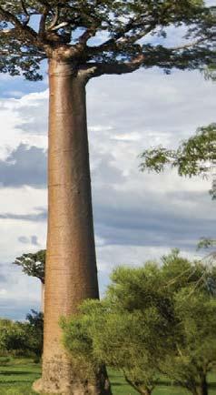
[[[195,394],[216,362],[216,268],[182,258],[177,249],[162,266],[113,271],[105,299],[85,301],[65,321],[64,345],[71,355],[122,370],[142,394],[150,394],[160,373]]]

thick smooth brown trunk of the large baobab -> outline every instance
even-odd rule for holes
[[[43,377],[34,390],[110,394],[106,374],[83,380],[62,345],[61,317],[98,298],[86,125],[85,81],[73,66],[49,65],[48,236],[45,265]]]

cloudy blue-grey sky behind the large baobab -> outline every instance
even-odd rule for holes
[[[199,238],[215,237],[211,179],[175,171],[141,173],[148,147],[177,147],[216,121],[216,85],[198,71],[139,70],[87,86],[93,218],[101,293],[116,265],[142,265],[171,248],[201,258]],[[45,248],[47,77],[0,75],[0,317],[40,309],[40,282],[12,264]]]

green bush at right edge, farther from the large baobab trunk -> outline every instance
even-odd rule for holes
[[[162,371],[193,395],[208,395],[207,374],[216,361],[216,269],[182,258],[179,251],[162,258],[162,276],[171,292],[179,321],[173,343],[176,353]]]

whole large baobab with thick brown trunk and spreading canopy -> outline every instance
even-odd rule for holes
[[[110,393],[105,375],[95,372],[86,381],[74,371],[59,327],[60,317],[75,314],[83,299],[98,298],[85,86],[93,77],[142,66],[169,72],[208,63],[212,24],[201,0],[1,0],[0,71],[37,80],[48,59],[44,359],[34,390]],[[167,47],[166,28],[180,25],[191,42]]]

